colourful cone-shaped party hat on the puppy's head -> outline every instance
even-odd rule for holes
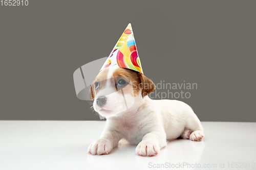
[[[143,74],[131,23],[124,30],[100,70],[108,67],[129,68]]]

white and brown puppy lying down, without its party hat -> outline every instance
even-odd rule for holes
[[[152,100],[147,94],[155,84],[140,72],[125,68],[105,68],[92,83],[90,98],[96,112],[106,117],[100,139],[88,148],[92,155],[109,154],[121,138],[136,144],[141,156],[157,155],[166,140],[204,137],[200,120],[185,103]]]

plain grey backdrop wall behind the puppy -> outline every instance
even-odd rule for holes
[[[197,83],[203,121],[256,122],[256,1],[35,1],[0,6],[2,120],[94,120],[73,72],[106,57],[129,22],[145,76]],[[103,63],[102,63],[103,64]]]

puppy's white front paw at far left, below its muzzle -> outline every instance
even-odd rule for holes
[[[104,155],[109,154],[113,150],[111,142],[106,139],[98,139],[90,144],[88,148],[88,154],[92,155]]]

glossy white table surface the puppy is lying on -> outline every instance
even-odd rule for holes
[[[173,140],[154,157],[137,156],[136,146],[125,142],[109,155],[88,155],[104,125],[0,121],[0,169],[256,169],[256,123],[202,122],[203,142]]]

